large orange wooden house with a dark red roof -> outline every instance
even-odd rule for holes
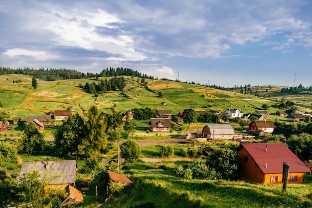
[[[283,163],[289,164],[288,183],[302,184],[310,169],[283,143],[250,143],[236,148],[238,174],[258,184],[282,184]]]

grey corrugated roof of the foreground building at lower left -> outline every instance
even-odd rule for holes
[[[35,170],[39,171],[42,179],[47,171],[51,174],[55,174],[57,177],[55,181],[51,182],[50,185],[54,184],[75,184],[76,182],[76,171],[78,171],[76,160],[64,160],[64,161],[48,161],[50,169],[46,169],[47,162],[26,162],[21,166],[19,177],[28,172]]]

